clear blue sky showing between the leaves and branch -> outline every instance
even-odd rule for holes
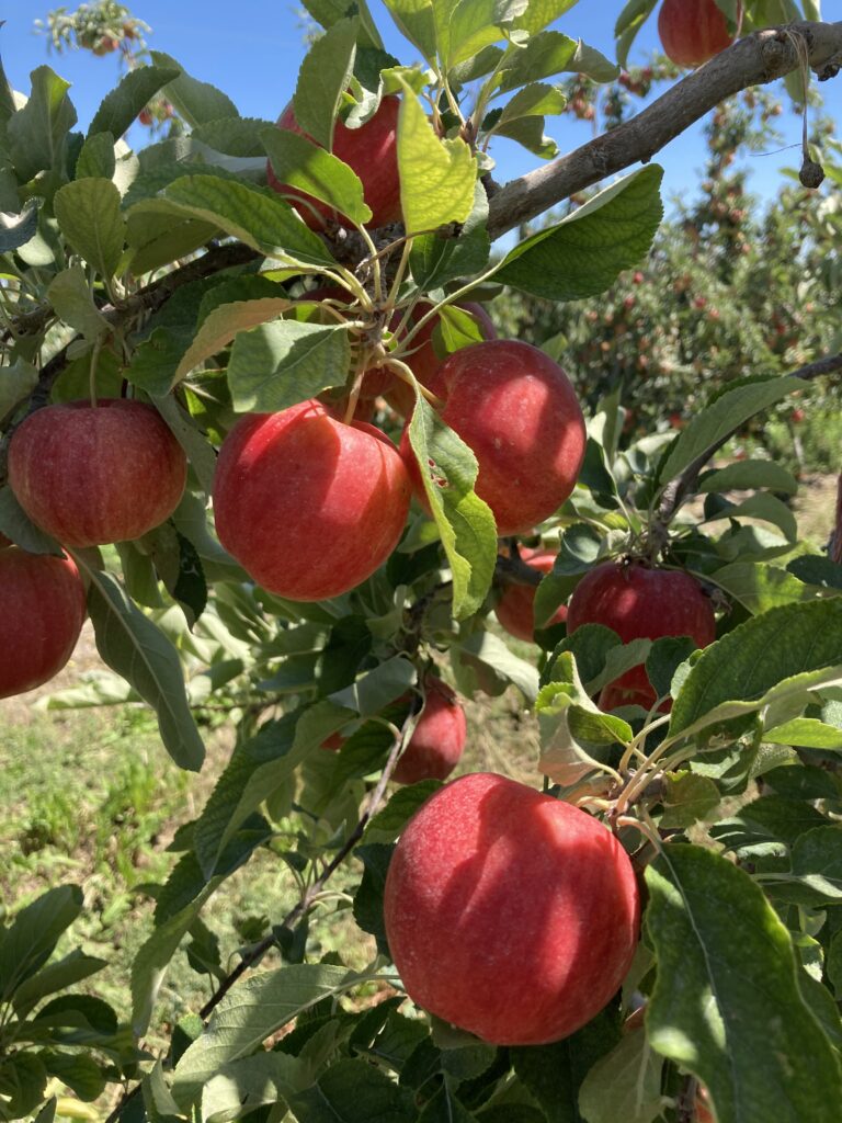
[[[75,3],[68,3],[72,10]],[[304,54],[304,43],[295,3],[277,0],[240,0],[239,3],[217,3],[212,0],[137,0],[130,4],[134,13],[153,28],[148,37],[153,48],[179,60],[193,75],[225,90],[240,112],[249,117],[274,119],[292,95],[295,76]],[[564,17],[558,28],[613,57],[613,21],[620,0],[580,0]],[[842,17],[842,0],[825,0],[825,18]],[[841,10],[833,15],[833,9]],[[0,0],[0,54],[12,85],[28,92],[29,72],[49,63],[72,83],[71,98],[80,122],[86,126],[102,97],[118,77],[113,55],[93,57],[89,52],[62,56],[48,55],[44,36],[34,34],[34,20],[46,16],[49,0]],[[373,0],[386,47],[402,62],[415,61],[415,52],[393,29],[379,0]],[[632,62],[640,62],[647,48],[657,45],[656,20],[651,17],[635,44]],[[842,76],[823,86],[827,110],[839,120],[842,115]],[[787,110],[779,118],[785,144],[797,145],[799,119]],[[135,130],[129,139],[141,143],[145,130]],[[570,115],[550,119],[547,131],[568,150],[588,139],[591,126],[574,120]],[[502,141],[492,153],[498,162],[496,177],[501,181],[522,174],[536,166],[536,157],[519,146]],[[656,159],[665,167],[663,194],[667,200],[694,190],[704,161],[704,146],[698,127],[674,140]],[[762,197],[771,197],[780,185],[780,170],[797,166],[798,150],[790,148],[771,155],[752,155],[747,163],[752,172],[750,188]]]

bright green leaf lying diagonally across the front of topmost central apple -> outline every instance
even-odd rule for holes
[[[304,191],[360,226],[370,221],[359,176],[337,156],[289,129],[265,129],[260,139],[281,183]]]

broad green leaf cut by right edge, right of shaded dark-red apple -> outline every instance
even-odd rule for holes
[[[753,617],[693,665],[672,705],[669,736],[751,713],[776,696],[804,696],[806,704],[813,684],[839,676],[841,651],[842,600],[787,604]]]

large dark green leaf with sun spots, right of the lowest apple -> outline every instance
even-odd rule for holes
[[[658,970],[652,1048],[702,1080],[719,1123],[834,1123],[839,1060],[761,889],[727,859],[686,844],[665,846],[646,879]]]

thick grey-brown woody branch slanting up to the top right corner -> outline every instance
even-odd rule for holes
[[[799,40],[820,81],[834,77],[842,67],[842,22],[802,21],[740,39],[630,121],[506,183],[491,200],[491,237],[498,238],[608,175],[648,163],[694,121],[740,90],[798,70]]]

